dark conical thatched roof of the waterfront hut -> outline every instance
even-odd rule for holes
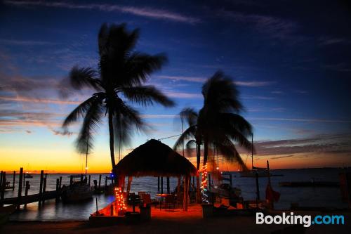
[[[161,141],[150,140],[124,157],[115,167],[124,176],[185,176],[197,173],[194,165]]]

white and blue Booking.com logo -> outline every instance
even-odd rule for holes
[[[317,215],[312,216],[310,215],[296,215],[293,212],[290,215],[286,215],[285,212],[282,215],[266,215],[257,212],[256,213],[256,224],[303,224],[304,227],[310,227],[311,225],[317,224],[325,224],[325,225],[334,225],[334,224],[344,224],[344,216],[343,215]]]

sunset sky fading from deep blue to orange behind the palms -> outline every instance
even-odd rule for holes
[[[177,103],[135,106],[151,130],[135,134],[123,155],[147,139],[180,134],[176,115],[199,110],[201,85],[222,70],[254,127],[256,166],[351,166],[350,15],[347,1],[1,1],[0,169],[83,171],[84,155],[74,149],[79,124],[69,136],[60,126],[92,91],[64,98],[61,81],[74,65],[97,67],[103,22],[139,27],[138,51],[167,54],[147,84]],[[106,123],[88,167],[110,171]]]

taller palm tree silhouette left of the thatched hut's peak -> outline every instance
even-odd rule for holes
[[[92,67],[73,67],[69,79],[74,89],[91,88],[93,95],[75,108],[62,126],[83,118],[77,138],[77,150],[86,152],[93,147],[93,132],[107,116],[110,133],[110,156],[115,166],[114,144],[123,145],[130,140],[133,130],[143,130],[144,122],[130,103],[143,106],[159,103],[173,106],[154,86],[143,86],[152,72],[161,69],[167,58],[162,54],[150,56],[134,50],[139,30],[128,32],[126,25],[102,25],[98,34],[98,70]]]

